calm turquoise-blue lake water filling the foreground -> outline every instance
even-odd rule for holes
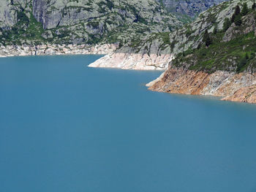
[[[148,91],[100,55],[0,59],[0,192],[255,192],[256,105]]]

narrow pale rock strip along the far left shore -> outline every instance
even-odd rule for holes
[[[109,54],[116,50],[117,45],[7,45],[0,47],[0,57],[26,55],[80,55]]]

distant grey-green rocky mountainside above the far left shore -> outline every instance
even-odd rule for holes
[[[4,0],[0,7],[4,45],[129,42],[177,26],[154,0]]]

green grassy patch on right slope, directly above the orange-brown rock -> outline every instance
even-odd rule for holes
[[[180,53],[173,61],[173,65],[182,66],[186,64],[191,70],[209,73],[217,70],[244,72],[255,59],[255,34],[252,32],[241,35],[230,42],[220,41],[224,35],[223,32],[217,34],[213,45]],[[219,38],[219,41],[217,41],[217,38]]]

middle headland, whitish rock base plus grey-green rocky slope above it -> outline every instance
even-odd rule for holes
[[[195,49],[203,41],[203,32],[214,28],[222,29],[223,20],[231,17],[237,2],[227,1],[201,13],[192,23],[171,32],[151,33],[138,36],[119,47],[116,54],[91,64],[97,67],[118,67],[121,69],[166,69],[178,53]],[[120,61],[118,63],[118,61]],[[149,66],[149,67],[148,67]]]

